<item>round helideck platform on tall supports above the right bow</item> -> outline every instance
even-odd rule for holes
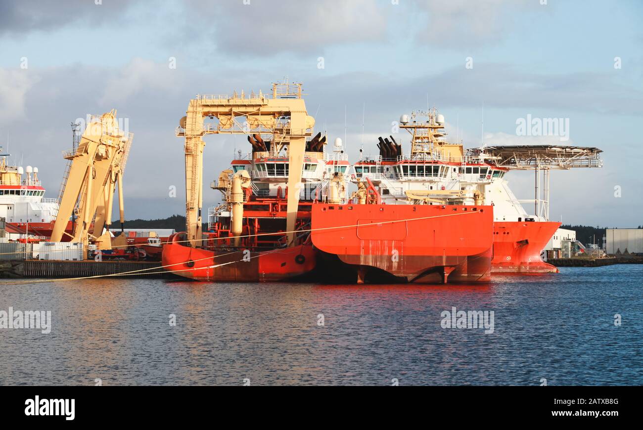
[[[467,157],[480,157],[481,161],[486,159],[514,170],[534,170],[534,199],[520,202],[534,203],[534,214],[549,220],[549,171],[602,167],[601,152],[599,148],[565,145],[494,145],[469,149]],[[542,188],[540,172],[543,172]]]

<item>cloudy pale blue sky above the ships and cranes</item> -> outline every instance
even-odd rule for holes
[[[353,160],[427,106],[465,147],[601,148],[602,168],[552,173],[550,219],[638,226],[642,19],[635,0],[2,0],[0,145],[57,197],[70,123],[117,109],[134,133],[126,218],[184,214],[174,129],[189,100],[287,79],[303,83],[316,130],[346,138]],[[568,120],[568,140],[518,136],[528,115]],[[244,136],[204,140],[207,213],[220,201],[210,182],[249,148]],[[532,198],[532,173],[506,179]]]

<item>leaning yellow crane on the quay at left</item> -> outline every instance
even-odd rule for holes
[[[125,222],[123,172],[132,137],[132,133],[119,128],[116,110],[113,109],[100,116],[92,116],[78,147],[63,152],[69,163],[60,188],[59,210],[51,233],[53,242],[62,240],[63,235],[69,236],[65,228],[69,217],[73,216],[76,221],[71,241],[84,243],[85,258],[89,242],[96,243],[98,249],[111,249],[109,227],[116,184],[121,231]],[[119,242],[123,242],[125,236],[120,237]]]

